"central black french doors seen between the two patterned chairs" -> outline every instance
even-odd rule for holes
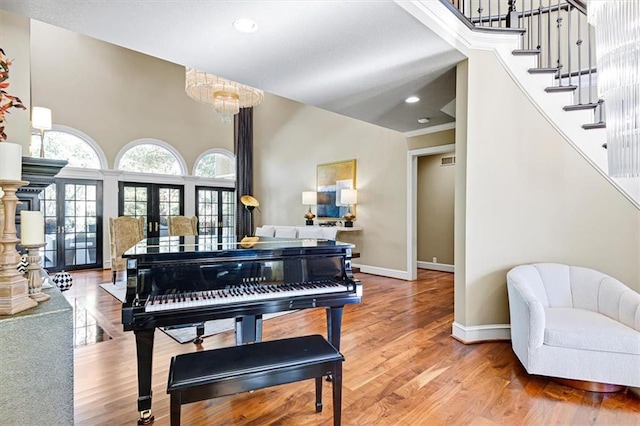
[[[143,217],[147,238],[169,235],[169,216],[184,214],[184,187],[120,182],[118,215]]]

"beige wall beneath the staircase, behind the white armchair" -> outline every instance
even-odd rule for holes
[[[467,124],[466,140],[456,140],[466,176],[456,198],[464,194],[466,218],[456,227],[464,227],[464,292],[473,303],[456,321],[508,323],[505,274],[521,263],[590,267],[640,290],[640,211],[562,139],[493,53],[470,54],[467,96],[457,103],[468,115],[458,115]],[[462,249],[456,237],[456,272]]]

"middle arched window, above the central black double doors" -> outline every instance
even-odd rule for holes
[[[160,141],[137,141],[125,147],[116,159],[119,170],[138,173],[183,175],[185,167],[179,155],[169,145]]]

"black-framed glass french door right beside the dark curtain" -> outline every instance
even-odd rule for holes
[[[236,196],[229,188],[196,187],[198,234],[217,236],[219,243],[236,240]]]

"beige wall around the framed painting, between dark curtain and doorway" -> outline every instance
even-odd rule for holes
[[[268,102],[267,102],[268,101]],[[357,263],[406,269],[406,138],[278,96],[255,109],[254,188],[262,200],[257,224],[304,224],[302,191],[316,187],[316,166],[357,160]]]

